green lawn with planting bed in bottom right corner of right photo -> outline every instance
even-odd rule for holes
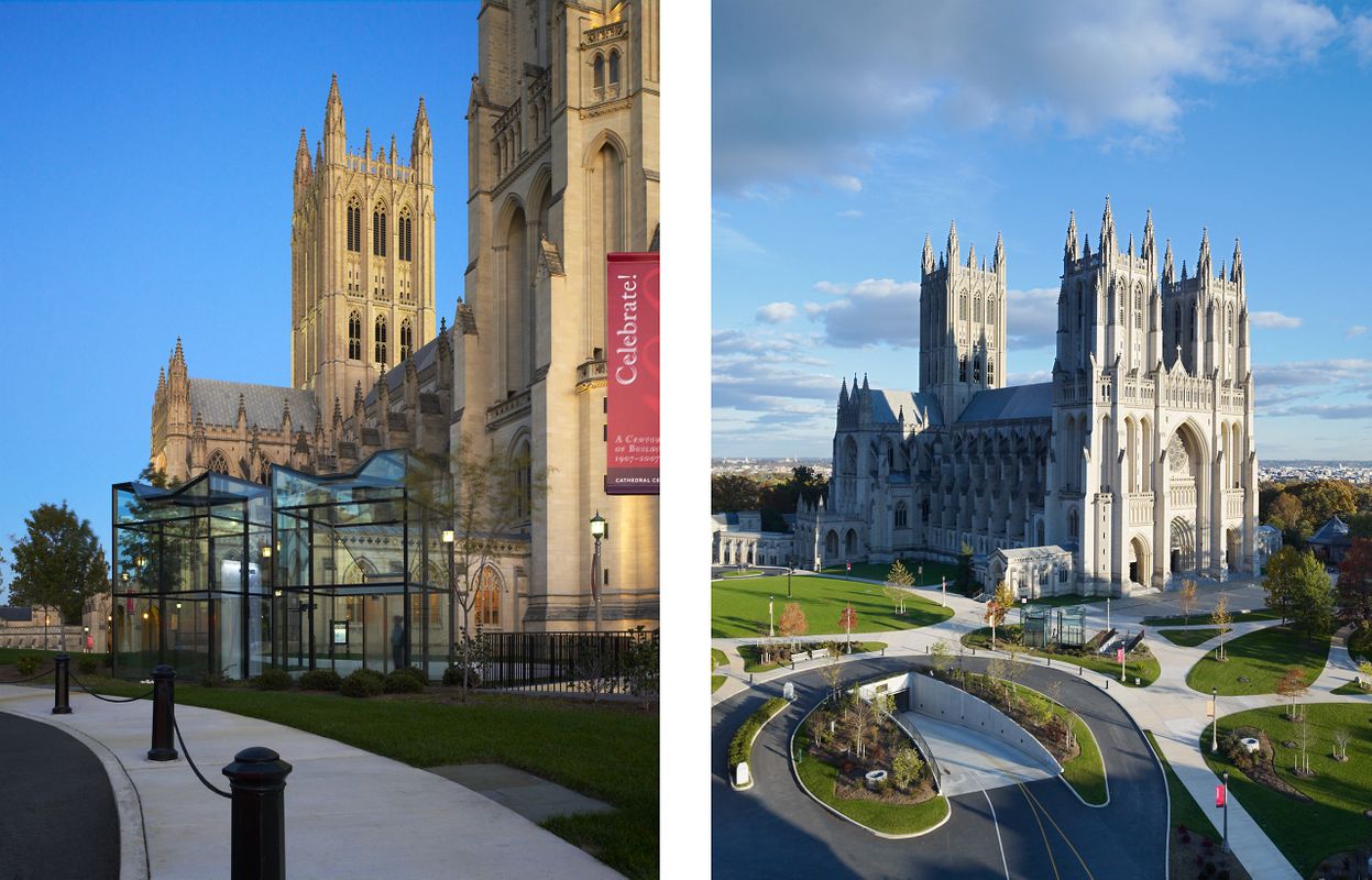
[[[1281,718],[1284,711],[1286,706],[1240,711],[1220,718],[1220,726],[1225,731],[1236,726],[1265,731],[1276,750],[1273,765],[1277,774],[1309,795],[1313,799],[1310,803],[1295,802],[1259,785],[1231,766],[1224,755],[1211,755],[1209,732],[1199,746],[1211,770],[1229,770],[1233,795],[1301,876],[1309,877],[1320,859],[1367,847],[1369,821],[1362,810],[1372,803],[1372,725],[1368,725],[1368,707],[1361,703],[1306,705],[1314,777],[1301,779],[1290,772],[1292,753],[1299,753],[1299,748],[1281,746],[1283,740],[1299,740],[1299,724]],[[1351,733],[1347,763],[1329,757],[1335,731]]]

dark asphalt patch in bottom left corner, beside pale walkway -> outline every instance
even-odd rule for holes
[[[41,721],[0,714],[0,877],[118,880],[114,792],[84,743]],[[71,846],[77,840],[81,846]]]

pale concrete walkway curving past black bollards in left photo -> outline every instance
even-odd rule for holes
[[[55,724],[100,757],[119,809],[121,877],[180,880],[229,873],[229,800],[178,761],[147,761],[151,703],[71,696],[51,714],[52,691],[0,685],[0,711]],[[230,713],[177,707],[200,772],[228,788],[220,769],[248,746],[274,748],[295,769],[285,787],[291,877],[619,877],[584,851],[457,783],[339,742]],[[178,747],[180,750],[180,747]],[[130,848],[145,846],[139,870]]]

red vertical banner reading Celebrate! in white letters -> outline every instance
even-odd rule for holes
[[[657,254],[605,258],[605,493],[657,495],[660,367]]]

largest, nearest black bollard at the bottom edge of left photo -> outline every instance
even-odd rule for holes
[[[285,777],[291,765],[263,746],[224,768],[233,794],[233,880],[285,880]]]

